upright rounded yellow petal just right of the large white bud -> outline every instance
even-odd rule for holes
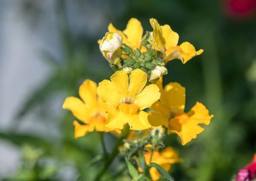
[[[141,38],[143,35],[143,28],[141,22],[136,18],[131,18],[123,33],[127,36],[130,45],[133,49],[139,48],[141,44]]]

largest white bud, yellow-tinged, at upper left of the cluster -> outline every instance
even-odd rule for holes
[[[107,32],[100,42],[100,52],[110,64],[119,64],[123,39],[120,34]]]

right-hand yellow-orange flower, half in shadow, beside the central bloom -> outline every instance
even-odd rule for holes
[[[185,109],[185,88],[181,84],[171,82],[162,88],[162,79],[157,82],[160,88],[160,101],[152,105],[149,116],[153,126],[164,125],[169,133],[177,133],[182,145],[195,139],[204,129],[199,124],[209,125],[213,115],[201,103],[196,103],[189,113]]]

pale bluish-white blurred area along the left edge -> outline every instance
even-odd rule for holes
[[[14,120],[26,97],[49,73],[41,60],[40,48],[44,45],[55,48],[57,42],[56,35],[42,34],[46,29],[28,25],[20,9],[21,3],[0,1],[0,130],[8,131],[15,127],[15,121],[22,121],[23,126],[18,129],[46,133],[43,122],[33,123],[36,118],[33,114],[25,117],[26,120]],[[48,20],[42,22],[42,27],[54,25],[53,19]],[[0,178],[15,172],[20,166],[19,160],[20,149],[0,139]]]

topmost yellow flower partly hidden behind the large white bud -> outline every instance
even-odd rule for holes
[[[110,23],[108,25],[108,31],[120,34],[123,38],[123,43],[131,47],[133,50],[141,46],[143,27],[141,26],[141,22],[136,18],[131,18],[123,31],[117,29],[112,23]]]

